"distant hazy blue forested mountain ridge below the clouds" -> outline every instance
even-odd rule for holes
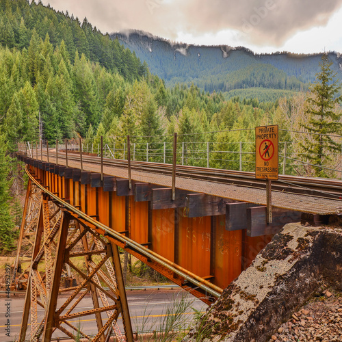
[[[142,31],[119,32],[111,34],[111,38],[118,38],[124,47],[134,51],[151,73],[164,79],[166,86],[194,83],[203,90],[228,92],[230,96],[252,96],[253,92],[269,89],[286,96],[287,92],[306,90],[315,81],[321,61],[318,53],[257,55],[244,47],[174,43]],[[329,53],[329,58],[338,77],[342,77],[341,55]]]

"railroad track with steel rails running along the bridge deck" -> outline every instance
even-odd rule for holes
[[[43,151],[44,159],[47,159],[46,151]],[[62,151],[58,152],[58,159],[65,161],[66,157]],[[100,157],[82,155],[83,163],[100,164]],[[68,161],[79,163],[79,153],[68,151]],[[49,161],[55,161],[55,153],[49,153]],[[104,167],[127,168],[127,160],[103,158]],[[164,163],[131,161],[131,170],[149,172],[172,176],[172,165]],[[176,176],[186,179],[198,179],[214,183],[237,185],[241,187],[265,189],[265,181],[255,179],[254,172],[220,170],[213,168],[202,168],[198,166],[176,166]],[[342,201],[342,180],[306,178],[300,176],[279,175],[278,181],[272,181],[272,191],[286,192],[289,194],[301,194],[315,196],[318,198],[331,198]]]

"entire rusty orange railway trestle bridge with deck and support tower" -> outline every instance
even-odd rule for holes
[[[267,224],[265,184],[251,172],[67,152],[17,153],[29,176],[12,278],[26,289],[21,342],[133,341],[118,247],[211,304],[282,226],[328,222],[342,208],[341,181],[281,176]],[[77,320],[90,315],[87,336]]]

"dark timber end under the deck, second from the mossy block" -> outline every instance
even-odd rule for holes
[[[247,229],[247,209],[258,207],[252,203],[236,202],[226,205],[226,231]]]

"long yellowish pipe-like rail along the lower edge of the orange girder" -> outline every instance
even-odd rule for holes
[[[196,274],[193,274],[192,272],[189,272],[187,269],[184,269],[183,267],[176,265],[175,263],[172,263],[168,259],[161,257],[161,255],[153,252],[152,250],[148,250],[146,247],[140,246],[140,244],[137,244],[137,242],[133,241],[132,239],[129,239],[129,237],[124,237],[123,235],[117,233],[116,231],[113,231],[111,228],[105,226],[105,224],[102,224],[101,222],[94,220],[93,218],[86,215],[79,209],[73,207],[68,202],[61,200],[58,196],[56,196],[52,192],[49,192],[47,188],[43,187],[36,179],[34,179],[34,176],[31,174],[31,172],[29,172],[28,166],[25,167],[25,172],[27,173],[31,181],[34,182],[43,192],[45,192],[51,198],[59,202],[60,205],[62,205],[64,208],[77,214],[79,218],[83,218],[83,220],[86,220],[90,224],[102,229],[108,235],[111,235],[115,239],[121,241],[127,247],[131,247],[134,250],[137,250],[142,255],[144,255],[144,257],[150,258],[151,260],[156,261],[163,267],[170,269],[171,272],[174,272],[175,274],[183,277],[188,282],[191,282],[197,287],[200,287],[200,289],[206,291],[210,295],[213,295],[215,298],[220,297],[220,295],[222,294],[223,289],[221,289],[220,287],[212,284],[211,282],[205,280],[204,278],[201,278],[200,276],[197,276]]]

